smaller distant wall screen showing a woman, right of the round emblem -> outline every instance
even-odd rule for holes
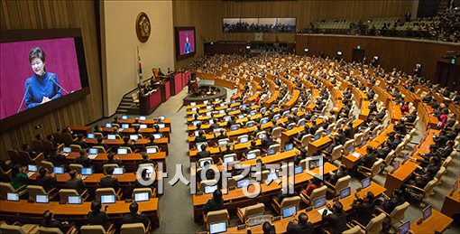
[[[175,27],[176,36],[176,58],[178,60],[195,55],[195,28]]]

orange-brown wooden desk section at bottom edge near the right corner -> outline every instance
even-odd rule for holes
[[[428,220],[423,220],[420,224],[417,224],[417,222],[411,223],[410,230],[413,234],[435,233],[435,231],[444,232],[452,221],[450,217],[433,209]]]

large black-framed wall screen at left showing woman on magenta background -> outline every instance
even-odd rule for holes
[[[2,32],[2,130],[84,97],[89,92],[87,86],[85,52],[79,30]]]

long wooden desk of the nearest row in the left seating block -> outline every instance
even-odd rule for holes
[[[124,201],[116,201],[114,204],[106,204],[107,215],[111,221],[120,221],[121,216],[129,214],[129,205]],[[159,224],[160,215],[158,212],[158,198],[150,201],[138,202],[139,211],[145,213],[153,225]],[[105,205],[103,205],[105,206]],[[48,204],[30,203],[21,201],[0,201],[2,220],[21,221],[25,223],[41,223],[44,211],[53,212],[57,220],[76,221],[79,224],[87,224],[87,212],[91,211],[91,202],[83,202],[79,205],[60,204],[58,201],[51,201]]]

